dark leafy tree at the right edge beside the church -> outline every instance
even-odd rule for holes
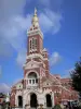
[[[81,96],[81,58],[75,65],[75,70],[71,71],[72,87],[79,92]]]

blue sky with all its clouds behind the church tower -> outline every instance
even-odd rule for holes
[[[35,7],[52,74],[69,76],[81,57],[81,0],[0,0],[0,90],[23,78]]]

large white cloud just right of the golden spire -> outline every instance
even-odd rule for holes
[[[44,33],[56,34],[60,28],[62,14],[45,9],[44,13],[40,13],[39,21]]]

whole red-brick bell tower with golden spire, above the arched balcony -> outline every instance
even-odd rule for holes
[[[30,70],[36,70],[39,75],[49,74],[49,57],[48,51],[43,49],[43,34],[40,29],[37,9],[31,20],[31,26],[27,31],[27,57],[24,64],[24,76]]]

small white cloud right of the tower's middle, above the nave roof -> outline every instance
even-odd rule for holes
[[[51,58],[50,58],[50,65],[55,65],[57,64],[58,62],[60,62],[62,60],[62,57],[58,52],[53,52]]]

